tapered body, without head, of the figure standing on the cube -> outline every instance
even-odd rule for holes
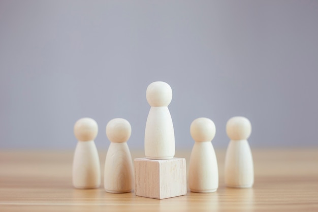
[[[174,129],[168,107],[151,107],[145,130],[145,156],[171,159],[175,154]]]

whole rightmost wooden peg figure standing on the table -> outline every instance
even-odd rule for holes
[[[227,123],[231,139],[225,158],[225,183],[228,187],[250,188],[254,183],[253,159],[247,138],[251,134],[249,120],[232,117]]]

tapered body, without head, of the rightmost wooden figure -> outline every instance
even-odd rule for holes
[[[253,186],[253,159],[247,140],[230,141],[225,158],[225,183],[235,188]]]

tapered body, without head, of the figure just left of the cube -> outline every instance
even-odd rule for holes
[[[105,191],[109,193],[131,192],[133,178],[133,161],[127,143],[111,143],[105,161]]]

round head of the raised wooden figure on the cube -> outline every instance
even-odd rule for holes
[[[172,100],[172,89],[166,82],[152,82],[147,87],[146,97],[151,107],[168,106]]]

